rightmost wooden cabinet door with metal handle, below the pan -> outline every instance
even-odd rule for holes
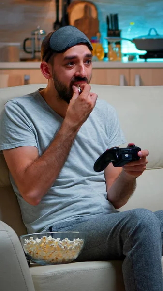
[[[130,86],[163,85],[163,69],[130,69]]]

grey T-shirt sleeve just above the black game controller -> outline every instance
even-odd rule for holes
[[[108,116],[110,118],[108,129],[109,132],[108,148],[111,148],[126,143],[126,139],[120,128],[119,117],[115,108],[110,106],[108,110],[109,110]]]

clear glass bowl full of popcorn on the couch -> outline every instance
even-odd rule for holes
[[[85,244],[84,232],[45,232],[20,236],[29,259],[40,265],[66,264],[74,261]]]

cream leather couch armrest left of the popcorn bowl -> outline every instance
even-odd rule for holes
[[[0,290],[34,291],[23,248],[15,231],[0,221]]]

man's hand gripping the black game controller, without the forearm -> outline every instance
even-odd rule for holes
[[[131,146],[133,144],[129,144]],[[131,178],[137,178],[146,170],[146,165],[148,163],[147,156],[149,152],[147,149],[141,150],[138,152],[139,160],[129,162],[123,166],[124,172],[129,175]]]

